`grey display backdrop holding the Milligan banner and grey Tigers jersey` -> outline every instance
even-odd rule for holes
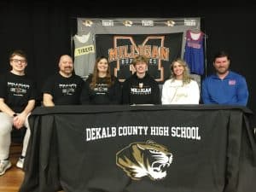
[[[149,59],[148,73],[163,83],[170,77],[172,61],[183,57],[186,32],[200,30],[200,18],[78,18],[77,21],[78,34],[73,37],[75,73],[88,77],[95,64],[91,56],[105,55],[112,74],[121,82],[135,72],[131,65],[133,58],[145,55]]]

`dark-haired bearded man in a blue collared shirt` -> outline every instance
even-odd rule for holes
[[[246,106],[247,82],[243,76],[229,70],[230,56],[224,51],[218,52],[214,56],[213,66],[216,74],[202,82],[203,103]]]

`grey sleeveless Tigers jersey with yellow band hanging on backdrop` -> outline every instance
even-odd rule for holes
[[[83,79],[87,79],[93,72],[96,61],[93,36],[89,32],[86,35],[73,36],[74,41],[74,72]]]

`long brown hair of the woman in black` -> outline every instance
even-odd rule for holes
[[[108,62],[108,58],[106,56],[100,56],[100,57],[96,58],[96,62],[95,62],[93,73],[92,73],[91,83],[90,83],[90,89],[94,89],[96,87],[96,84],[99,79],[98,63],[103,59],[107,60],[107,62]],[[109,63],[108,63],[108,70],[107,70],[107,75],[106,75],[106,84],[108,84],[108,87],[110,87],[113,84],[113,79],[111,78]]]

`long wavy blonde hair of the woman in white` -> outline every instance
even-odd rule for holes
[[[189,67],[188,67],[188,64],[186,63],[186,61],[183,61],[183,59],[181,59],[181,58],[177,58],[176,60],[172,61],[172,64],[170,66],[171,67],[171,79],[176,79],[176,75],[173,72],[173,66],[174,66],[175,62],[178,62],[184,68],[183,84],[189,84],[190,81],[191,81],[191,77],[190,77],[190,73],[189,73]]]

